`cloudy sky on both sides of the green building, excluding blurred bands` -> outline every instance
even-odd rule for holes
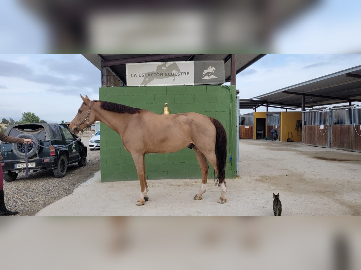
[[[237,89],[241,98],[252,98],[360,64],[358,54],[270,54],[238,74]],[[79,95],[99,99],[99,87],[99,69],[82,55],[3,54],[0,120],[34,112],[48,122],[69,122],[82,103]]]

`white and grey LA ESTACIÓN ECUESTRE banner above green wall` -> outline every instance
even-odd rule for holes
[[[224,61],[126,64],[127,86],[196,85],[225,82]]]

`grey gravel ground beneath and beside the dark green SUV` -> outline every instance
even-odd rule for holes
[[[84,132],[82,142],[87,147],[92,132]],[[18,175],[13,182],[4,181],[5,205],[11,211],[18,211],[19,216],[33,216],[49,204],[73,192],[95,172],[100,170],[100,150],[89,150],[87,165],[79,167],[78,163],[68,165],[68,171],[62,178],[56,178],[53,170],[40,170]]]

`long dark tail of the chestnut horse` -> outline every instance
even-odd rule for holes
[[[217,119],[210,117],[213,125],[216,127],[216,158],[218,175],[216,185],[221,186],[222,183],[226,185],[226,161],[227,161],[227,134],[222,123]]]

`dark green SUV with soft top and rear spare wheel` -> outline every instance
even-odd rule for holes
[[[0,144],[3,160],[4,180],[14,181],[19,172],[25,172],[25,147],[27,147],[28,168],[30,172],[41,169],[53,170],[56,177],[66,174],[66,166],[78,162],[79,166],[87,163],[87,147],[71,134],[68,126],[55,123],[27,123],[8,126],[5,135],[29,138],[38,144],[5,143]],[[70,144],[69,146],[66,146]],[[39,158],[36,157],[38,150]]]

